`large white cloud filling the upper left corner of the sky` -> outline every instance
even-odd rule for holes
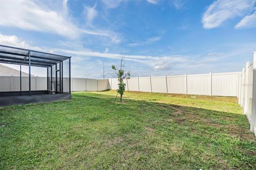
[[[32,1],[1,1],[0,15],[4,16],[0,20],[2,26],[78,36],[77,28],[62,15]]]

